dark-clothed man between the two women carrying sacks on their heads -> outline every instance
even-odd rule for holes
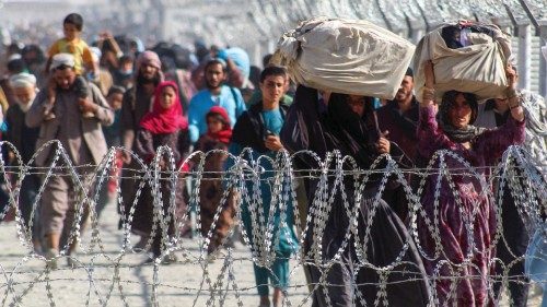
[[[376,110],[376,130],[385,134],[392,144],[392,156],[401,168],[412,167],[417,161],[416,129],[419,118],[419,104],[412,93],[414,73],[409,68],[400,82],[393,101]],[[405,222],[408,215],[408,201],[401,185],[386,187],[383,199]]]

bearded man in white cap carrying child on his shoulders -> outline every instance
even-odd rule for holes
[[[74,223],[79,221],[80,228],[75,229],[83,232],[89,203],[81,201],[82,192],[93,194],[92,189],[82,191],[71,176],[65,176],[68,172],[66,167],[73,166],[83,178],[83,187],[89,187],[93,177],[93,166],[90,165],[100,164],[107,152],[101,127],[112,125],[114,113],[94,84],[88,84],[88,97],[80,98],[72,55],[55,55],[50,69],[53,78],[49,86],[56,86],[55,96],[49,96],[53,91],[39,92],[25,116],[25,123],[31,128],[40,128],[36,149],[57,140],[70,160],[60,158],[57,162],[56,166],[60,167],[56,167],[53,176],[47,178],[42,196],[40,223],[47,246],[46,258],[50,268],[56,269],[60,247],[70,245],[69,255],[75,250],[80,234],[73,231]],[[47,115],[51,113],[55,117],[48,120]],[[93,117],[84,116],[90,113]],[[38,152],[36,166],[48,167],[54,163],[58,143]],[[73,263],[72,258],[68,260],[69,264]]]

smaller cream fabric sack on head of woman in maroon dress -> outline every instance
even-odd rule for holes
[[[511,56],[511,38],[496,25],[482,26],[493,29],[493,38],[487,34],[473,33],[473,45],[452,49],[441,36],[443,24],[428,33],[418,44],[415,56],[415,84],[419,101],[422,99],[423,63],[432,60],[435,74],[435,98],[441,101],[447,91],[474,93],[479,99],[502,98],[508,81],[507,59]]]

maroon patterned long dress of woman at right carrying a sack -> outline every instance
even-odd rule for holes
[[[418,146],[420,155],[432,157],[435,151],[450,150],[470,163],[484,180],[485,175],[488,175],[485,166],[496,165],[509,145],[524,141],[524,121],[517,122],[511,118],[503,127],[478,135],[473,141],[473,147],[468,150],[461,143],[452,141],[439,128],[433,107],[427,107],[420,110],[418,138],[420,140]],[[446,157],[444,162],[449,168],[464,167],[461,162],[452,157]],[[439,167],[439,161],[433,167]],[[468,170],[464,172],[469,173]],[[440,272],[437,273],[441,278],[452,278],[437,281],[435,291],[442,306],[445,304],[451,304],[450,306],[484,306],[488,297],[487,276],[493,275],[493,268],[489,263],[496,251],[492,245],[496,235],[493,205],[476,177],[466,176],[455,169],[451,170],[451,178],[455,187],[455,191],[453,191],[446,176],[442,175],[442,180],[438,181],[439,176],[439,174],[433,174],[428,178],[421,196],[421,203],[430,221],[434,221],[434,216],[439,219],[437,224],[433,222],[430,224],[438,229],[438,239],[440,239],[439,243],[444,252],[434,260],[424,261],[426,269],[429,274],[433,275],[440,261],[449,260],[451,262],[451,264],[442,265]],[[437,188],[438,182],[440,182],[439,188]],[[454,197],[455,192],[457,192],[457,198]],[[435,201],[435,198],[439,202]],[[428,223],[423,219],[418,220],[418,233],[421,247],[428,257],[433,257],[437,235],[431,235]],[[473,238],[473,245],[470,238]],[[470,260],[473,265],[455,267],[463,264],[465,259]],[[451,272],[450,269],[453,269],[454,272]],[[457,278],[457,284],[455,293],[450,295],[451,286],[454,286],[454,278]],[[491,299],[490,297],[490,305],[493,305]]]

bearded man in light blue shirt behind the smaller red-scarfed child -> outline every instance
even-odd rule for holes
[[[245,102],[240,90],[224,85],[226,64],[221,59],[212,59],[205,66],[207,88],[198,92],[190,101],[188,121],[190,141],[195,143],[207,132],[206,115],[213,106],[220,106],[228,111],[233,128],[240,115],[245,110]]]

